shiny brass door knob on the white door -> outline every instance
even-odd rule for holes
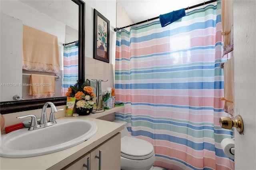
[[[236,130],[240,134],[242,134],[244,131],[244,123],[240,115],[236,116],[236,120],[232,120],[230,117],[220,117],[220,126],[226,129],[232,129],[232,127],[236,127]]]

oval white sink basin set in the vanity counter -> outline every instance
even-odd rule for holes
[[[2,136],[0,156],[24,158],[50,154],[80,144],[98,130],[96,123],[88,120],[62,119],[56,123],[37,130],[22,128]]]

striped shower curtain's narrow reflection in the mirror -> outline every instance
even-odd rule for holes
[[[78,80],[78,45],[64,46],[63,54],[63,83],[62,83],[62,96],[68,91],[70,85],[74,85]]]

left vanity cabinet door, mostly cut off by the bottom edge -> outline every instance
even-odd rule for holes
[[[88,159],[89,161],[87,162]],[[90,164],[90,153],[84,154],[76,161],[63,168],[63,170],[88,170],[88,168],[84,166],[84,164],[87,166],[88,163]]]

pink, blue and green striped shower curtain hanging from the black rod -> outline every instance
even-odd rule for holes
[[[132,136],[152,143],[155,166],[233,170],[221,149],[232,130],[220,127],[224,95],[221,2],[187,12],[161,28],[159,21],[116,33],[116,101],[126,108]]]

